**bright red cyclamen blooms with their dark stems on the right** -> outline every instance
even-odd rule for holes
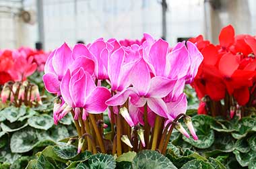
[[[211,44],[201,35],[189,41],[203,54],[192,84],[201,100],[198,113],[230,118],[247,115],[245,107],[255,104],[255,36],[235,36],[228,25],[220,32],[220,44]]]

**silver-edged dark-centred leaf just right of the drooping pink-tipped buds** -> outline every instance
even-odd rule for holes
[[[196,115],[192,117],[192,122],[198,136],[198,140],[183,135],[183,140],[195,148],[210,148],[214,143],[214,130],[210,127],[214,119],[208,115]],[[187,127],[185,127],[187,129]]]

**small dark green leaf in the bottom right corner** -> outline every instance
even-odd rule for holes
[[[234,150],[234,155],[236,156],[236,160],[241,166],[248,166],[249,162],[253,160],[256,156],[256,152],[250,151],[248,153],[241,153],[238,150]]]

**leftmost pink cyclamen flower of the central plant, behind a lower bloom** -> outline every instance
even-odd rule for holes
[[[60,48],[57,48],[49,55],[44,66],[44,86],[49,93],[55,93],[60,95],[60,84],[63,76],[67,72],[67,69],[71,72],[77,70],[77,68],[84,68],[90,74],[94,73],[94,61],[88,56],[86,51],[81,50],[80,46],[83,44],[77,44],[73,50],[63,44]],[[86,46],[84,46],[86,48]]]

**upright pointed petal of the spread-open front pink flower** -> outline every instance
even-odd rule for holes
[[[133,68],[131,83],[141,96],[146,95],[150,89],[150,70],[143,58]]]

